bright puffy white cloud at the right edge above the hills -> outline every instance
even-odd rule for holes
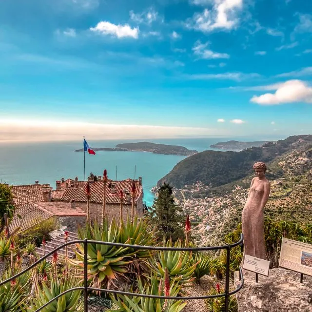
[[[277,105],[294,102],[312,103],[312,88],[301,80],[288,80],[276,88],[276,92],[254,96],[251,101],[260,105]]]

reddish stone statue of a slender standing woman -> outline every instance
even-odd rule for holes
[[[263,208],[269,199],[271,184],[265,177],[267,167],[264,162],[256,162],[253,168],[256,177],[252,180],[249,195],[242,212],[243,261],[245,254],[267,259],[263,232]]]

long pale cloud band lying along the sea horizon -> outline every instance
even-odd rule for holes
[[[221,133],[220,133],[221,131]],[[102,139],[147,139],[229,135],[226,130],[200,127],[117,125],[74,121],[0,119],[0,141],[50,141]],[[100,146],[98,146],[100,147]]]

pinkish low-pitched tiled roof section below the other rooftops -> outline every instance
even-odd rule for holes
[[[87,216],[81,207],[71,208],[70,204],[66,202],[40,202],[36,204],[57,216]]]

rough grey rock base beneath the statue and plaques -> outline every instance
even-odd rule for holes
[[[235,274],[235,286],[239,283]],[[244,270],[244,287],[236,294],[238,312],[312,312],[312,277],[285,269],[272,269],[269,277]]]

